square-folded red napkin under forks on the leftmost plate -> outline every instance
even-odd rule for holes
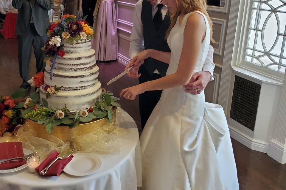
[[[0,159],[14,158],[18,156],[24,156],[21,142],[0,143]],[[0,164],[0,170],[16,168],[26,163],[27,161],[6,162],[4,164]]]

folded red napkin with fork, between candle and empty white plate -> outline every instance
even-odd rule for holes
[[[36,167],[36,172],[40,174],[40,172],[45,169],[52,161],[54,161],[59,153],[54,150],[38,167]],[[49,168],[49,170],[46,172],[45,175],[49,176],[57,176],[60,175],[60,173],[63,171],[63,169],[66,167],[66,164],[68,164],[71,160],[73,155],[69,156],[66,159],[58,159],[52,166]]]

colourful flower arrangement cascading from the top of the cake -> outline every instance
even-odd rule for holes
[[[63,51],[63,39],[66,42],[73,45],[75,42],[86,42],[93,37],[94,31],[88,26],[85,18],[82,18],[82,14],[74,15],[63,15],[56,23],[52,23],[47,29],[47,36],[50,38],[46,41],[42,50],[45,52],[47,57],[45,62],[51,64],[49,71],[50,79],[52,80],[53,69],[55,68],[55,62],[58,56],[63,57],[65,52]]]

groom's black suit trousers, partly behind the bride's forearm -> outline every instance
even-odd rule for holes
[[[139,84],[161,78],[161,75],[157,73],[150,75],[145,69],[144,65],[140,66],[139,73],[141,73],[141,76],[139,77]],[[144,129],[144,126],[147,123],[153,109],[159,102],[162,91],[163,90],[146,91],[142,94],[139,94],[139,111],[142,130]]]

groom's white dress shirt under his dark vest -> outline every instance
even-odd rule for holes
[[[133,27],[130,35],[130,49],[129,49],[129,57],[132,59],[138,53],[144,50],[144,37],[143,37],[143,25],[141,21],[141,10],[142,10],[142,2],[143,0],[139,0],[135,5],[134,15],[133,15]],[[157,12],[158,8],[153,6],[152,8],[152,18],[154,17],[155,13]],[[161,9],[162,18],[164,20],[165,15],[167,14],[168,8],[163,6]],[[211,73],[211,79],[213,78],[215,64],[213,63],[213,54],[214,48],[210,45],[209,46],[209,53],[206,58],[206,61],[203,64],[203,71],[208,71]],[[154,73],[159,73],[157,70]]]

